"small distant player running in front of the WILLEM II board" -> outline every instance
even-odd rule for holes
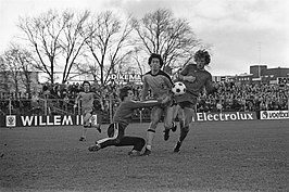
[[[85,80],[83,82],[83,87],[84,87],[84,91],[79,92],[79,94],[75,99],[75,105],[74,105],[74,107],[77,107],[78,101],[81,100],[81,114],[84,116],[84,127],[83,127],[83,135],[79,141],[86,140],[87,128],[91,127],[90,117],[92,116],[92,113],[93,113],[95,98],[97,98],[97,94],[90,90],[89,81]],[[101,131],[100,124],[97,125],[97,129],[99,132]]]

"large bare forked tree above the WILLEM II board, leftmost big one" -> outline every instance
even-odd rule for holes
[[[61,33],[66,26],[67,20],[62,20],[52,10],[38,17],[20,18],[18,27],[26,35],[36,53],[36,68],[48,74],[49,80],[55,80],[56,56],[62,51],[59,44]]]

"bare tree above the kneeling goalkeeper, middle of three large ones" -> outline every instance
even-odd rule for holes
[[[122,25],[121,20],[111,11],[100,13],[92,17],[85,30],[86,44],[92,55],[93,62],[89,72],[99,77],[101,85],[109,80],[109,75],[115,73],[117,65],[124,65],[131,54],[129,34],[133,28],[129,20]]]

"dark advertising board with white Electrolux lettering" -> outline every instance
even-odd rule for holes
[[[194,121],[235,121],[254,120],[255,112],[224,112],[224,113],[197,113]]]

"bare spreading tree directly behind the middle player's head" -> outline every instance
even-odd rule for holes
[[[175,18],[169,10],[156,10],[141,20],[134,20],[137,31],[136,44],[147,54],[163,56],[164,68],[185,64],[192,59],[194,49],[201,44],[186,20]]]

